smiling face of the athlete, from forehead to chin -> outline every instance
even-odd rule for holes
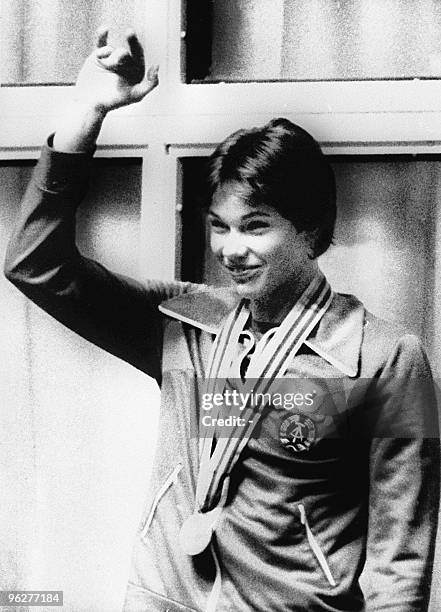
[[[251,206],[246,197],[236,182],[216,190],[208,212],[211,249],[241,297],[283,295],[314,266],[308,236],[276,209]]]

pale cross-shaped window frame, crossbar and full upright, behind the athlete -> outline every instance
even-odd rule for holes
[[[325,153],[441,153],[441,80],[187,84],[182,79],[184,0],[145,2],[149,56],[161,66],[161,84],[148,99],[106,118],[97,151],[142,157],[141,277],[175,276],[179,157],[208,155],[236,129],[285,116],[310,130]],[[38,157],[72,90],[1,87],[0,159]],[[168,245],[162,232],[171,237]]]

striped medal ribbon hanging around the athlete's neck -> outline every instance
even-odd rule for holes
[[[304,340],[320,321],[332,301],[332,290],[322,274],[318,274],[303,292],[299,300],[276,330],[270,330],[259,341],[252,355],[241,391],[252,395],[268,392],[274,379],[282,376]],[[237,343],[250,317],[244,302],[228,316],[218,334],[211,353],[207,393],[223,392],[225,380],[231,374]],[[249,349],[242,354],[249,352]],[[237,364],[237,362],[236,362]],[[240,363],[237,380],[240,380]],[[249,380],[248,380],[249,379]],[[252,384],[251,381],[254,381]],[[256,409],[257,408],[257,409]],[[231,435],[220,437],[211,454],[213,429],[205,436],[200,458],[196,488],[196,511],[208,512],[226,501],[226,479],[245,448],[261,416],[261,406],[245,407],[242,419],[245,425],[236,424]]]

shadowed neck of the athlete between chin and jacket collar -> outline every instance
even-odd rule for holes
[[[291,277],[285,285],[277,287],[271,294],[252,300],[250,310],[253,319],[273,324],[281,323],[318,273],[317,263],[311,263],[307,270],[302,270],[301,275]]]

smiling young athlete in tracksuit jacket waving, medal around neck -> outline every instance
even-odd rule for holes
[[[228,288],[140,284],[78,252],[102,122],[158,83],[134,34],[127,45],[100,34],[6,262],[30,299],[162,387],[125,609],[426,610],[439,480],[430,369],[414,336],[320,272],[335,186],[314,139],[277,119],[213,153],[207,218]]]

